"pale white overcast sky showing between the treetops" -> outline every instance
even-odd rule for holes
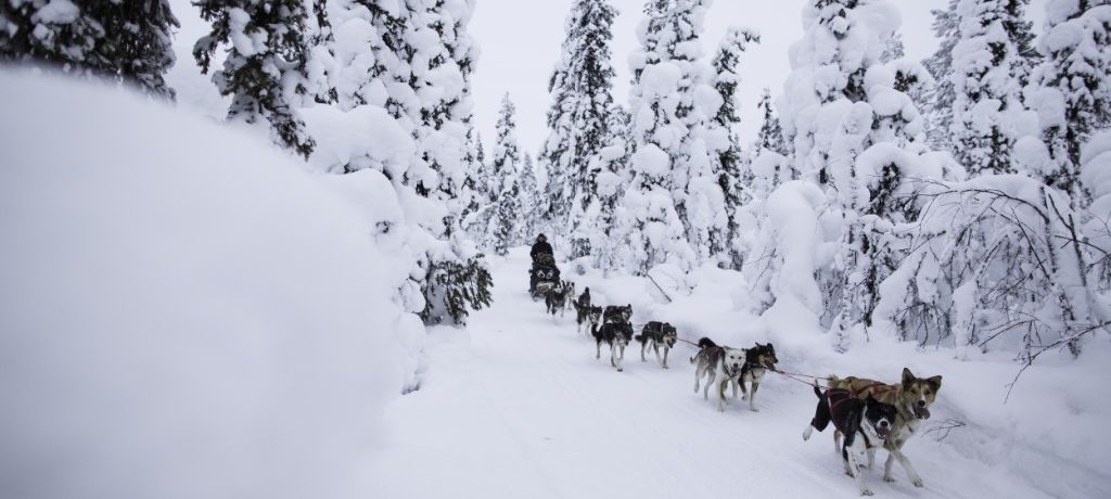
[[[802,38],[802,7],[809,0],[714,0],[707,16],[704,54],[710,57],[731,26],[760,31],[762,42],[752,46],[741,61],[740,109],[743,140],[754,138],[759,121],[751,116],[763,87],[780,93],[790,70],[788,49]],[[1040,19],[1044,0],[1034,0],[1028,14]],[[628,57],[637,48],[637,26],[645,0],[610,0],[620,11],[613,27],[613,66],[618,71],[614,98],[628,103]],[[517,104],[517,137],[522,150],[536,157],[547,138],[547,112],[551,100],[548,78],[563,42],[563,22],[572,0],[478,0],[469,31],[482,54],[472,80],[476,119],[487,149],[493,147],[494,122],[502,94]],[[892,0],[902,11],[907,54],[929,56],[937,47],[930,24],[931,9],[945,0]]]

